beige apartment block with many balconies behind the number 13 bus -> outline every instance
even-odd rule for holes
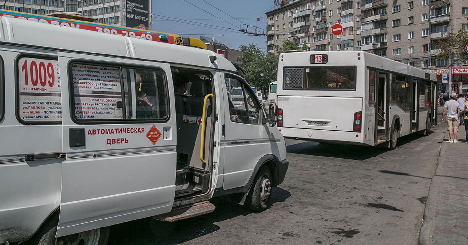
[[[267,16],[267,50],[286,39],[309,50],[363,50],[452,78],[468,92],[468,63],[432,59],[437,42],[468,31],[468,0],[276,0]],[[341,35],[331,34],[340,23]],[[441,86],[442,90],[448,89]]]

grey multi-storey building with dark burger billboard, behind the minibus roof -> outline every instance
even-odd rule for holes
[[[151,29],[151,0],[6,0],[0,8],[31,14],[78,12],[103,24]]]

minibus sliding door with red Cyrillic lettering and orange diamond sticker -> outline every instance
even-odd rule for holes
[[[169,212],[176,192],[169,65],[59,52],[59,70],[66,161],[57,237]]]

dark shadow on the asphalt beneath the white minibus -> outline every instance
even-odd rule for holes
[[[282,203],[291,196],[291,193],[279,187],[273,188],[269,207],[275,203]],[[238,216],[247,216],[254,212],[246,206],[232,203],[223,197],[216,197],[210,200],[216,206],[216,210],[210,214],[193,217],[186,220],[173,222],[158,222],[157,227],[150,228],[150,218],[139,219],[110,227],[110,239],[108,244],[112,245],[172,245],[190,241],[192,239],[205,236],[218,231],[220,227],[217,222],[222,222]],[[268,212],[265,210],[264,212]],[[152,234],[158,231],[164,232],[161,237],[155,238]],[[173,230],[172,230],[173,229]],[[168,231],[172,232],[168,233]]]

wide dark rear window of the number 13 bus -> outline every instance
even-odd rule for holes
[[[285,89],[356,90],[356,67],[310,66],[293,68],[285,71],[286,84],[294,84],[295,86],[289,88],[285,86]]]

